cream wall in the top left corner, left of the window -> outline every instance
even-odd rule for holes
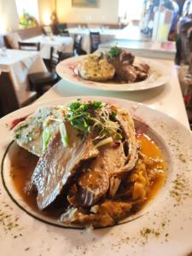
[[[18,29],[19,16],[15,0],[0,0],[0,33]]]

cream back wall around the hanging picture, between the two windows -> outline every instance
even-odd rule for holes
[[[38,0],[40,20],[44,24],[45,13],[51,14],[52,1]],[[98,8],[74,8],[72,0],[57,0],[59,22],[72,23],[118,23],[119,0],[98,0]]]

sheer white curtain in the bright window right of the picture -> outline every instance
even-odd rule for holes
[[[143,0],[119,0],[119,18],[140,20],[143,11]]]

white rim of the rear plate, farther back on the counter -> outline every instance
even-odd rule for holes
[[[157,61],[151,61],[144,58],[137,58],[138,61],[144,61],[148,63],[150,67],[150,73],[148,79],[142,82],[131,83],[131,84],[117,84],[113,82],[93,82],[82,79],[78,74],[78,67],[83,60],[84,55],[69,58],[61,61],[56,66],[56,72],[62,79],[67,80],[73,84],[80,86],[98,89],[98,90],[113,90],[113,91],[134,91],[134,90],[148,90],[151,88],[159,87],[169,80],[169,74],[167,73],[166,67],[158,63]]]

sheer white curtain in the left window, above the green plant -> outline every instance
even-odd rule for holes
[[[17,13],[20,16],[23,15],[23,11],[29,15],[32,15],[37,21],[39,21],[38,15],[38,0],[15,0]]]

